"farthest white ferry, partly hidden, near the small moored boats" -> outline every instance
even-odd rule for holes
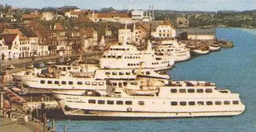
[[[176,38],[165,38],[160,40],[161,44],[155,48],[156,52],[170,53],[175,61],[184,61],[190,58],[189,49],[184,43],[178,43]]]

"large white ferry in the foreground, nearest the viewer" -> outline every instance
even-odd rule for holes
[[[135,81],[125,86],[108,84],[101,93],[93,90],[52,93],[63,113],[75,120],[234,116],[245,109],[239,94],[202,81],[167,85],[161,81],[151,84]]]

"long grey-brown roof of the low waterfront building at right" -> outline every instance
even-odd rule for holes
[[[215,28],[178,28],[176,29],[176,34],[181,34],[183,32],[186,32],[187,34],[193,34],[193,35],[215,35],[216,30]]]

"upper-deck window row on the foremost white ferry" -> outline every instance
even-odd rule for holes
[[[170,89],[170,93],[212,93],[212,89]]]

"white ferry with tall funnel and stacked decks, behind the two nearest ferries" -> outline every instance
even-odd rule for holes
[[[147,49],[139,51],[135,46],[123,45],[111,46],[109,51],[104,52],[100,58],[101,69],[138,69],[140,63],[144,63],[142,68],[154,68],[155,70],[168,69],[174,65],[172,55],[155,54],[152,50],[150,40],[147,41]]]

